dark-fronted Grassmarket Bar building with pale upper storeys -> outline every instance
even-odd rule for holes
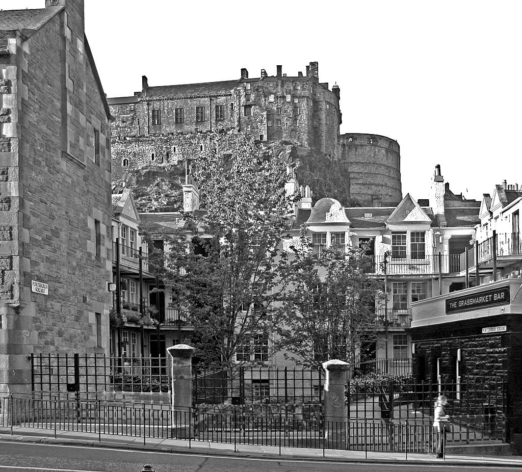
[[[456,410],[471,392],[483,428],[522,451],[522,194],[495,185],[460,260],[465,287],[412,304],[414,375],[437,385]],[[469,384],[469,388],[468,388]]]

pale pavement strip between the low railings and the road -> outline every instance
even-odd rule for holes
[[[327,459],[335,462],[369,462],[408,464],[475,465],[497,467],[522,467],[522,456],[479,456],[448,454],[444,459],[437,459],[435,454],[404,452],[365,452],[345,450],[306,449],[279,446],[255,446],[251,444],[229,444],[206,441],[188,441],[184,439],[137,438],[136,436],[86,433],[78,431],[53,430],[14,427],[0,428],[0,441],[26,443],[65,444],[87,447],[111,447],[114,449],[132,449],[138,451],[157,451],[171,453],[191,453],[229,457],[258,457],[266,459],[285,459],[299,461],[317,461]]]

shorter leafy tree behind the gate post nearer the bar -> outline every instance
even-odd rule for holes
[[[305,229],[293,250],[284,268],[289,287],[275,310],[277,347],[308,367],[329,359],[352,363],[361,341],[375,337],[375,299],[382,282],[370,275],[373,258],[364,249],[335,244],[314,254]]]

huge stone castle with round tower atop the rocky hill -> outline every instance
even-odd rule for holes
[[[243,68],[239,79],[201,84],[149,86],[144,76],[134,96],[108,100],[115,117],[115,183],[128,183],[139,169],[197,159],[208,134],[232,131],[299,161],[300,180],[318,197],[338,196],[359,206],[372,205],[373,198],[397,204],[402,199],[397,141],[340,135],[339,100],[337,85],[330,89],[319,81],[317,62],[305,74],[289,76],[278,65],[276,75],[262,69],[250,78]]]

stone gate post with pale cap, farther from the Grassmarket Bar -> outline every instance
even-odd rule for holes
[[[187,344],[176,344],[167,349],[172,357],[172,436],[194,437],[192,415],[192,356],[194,348]]]

